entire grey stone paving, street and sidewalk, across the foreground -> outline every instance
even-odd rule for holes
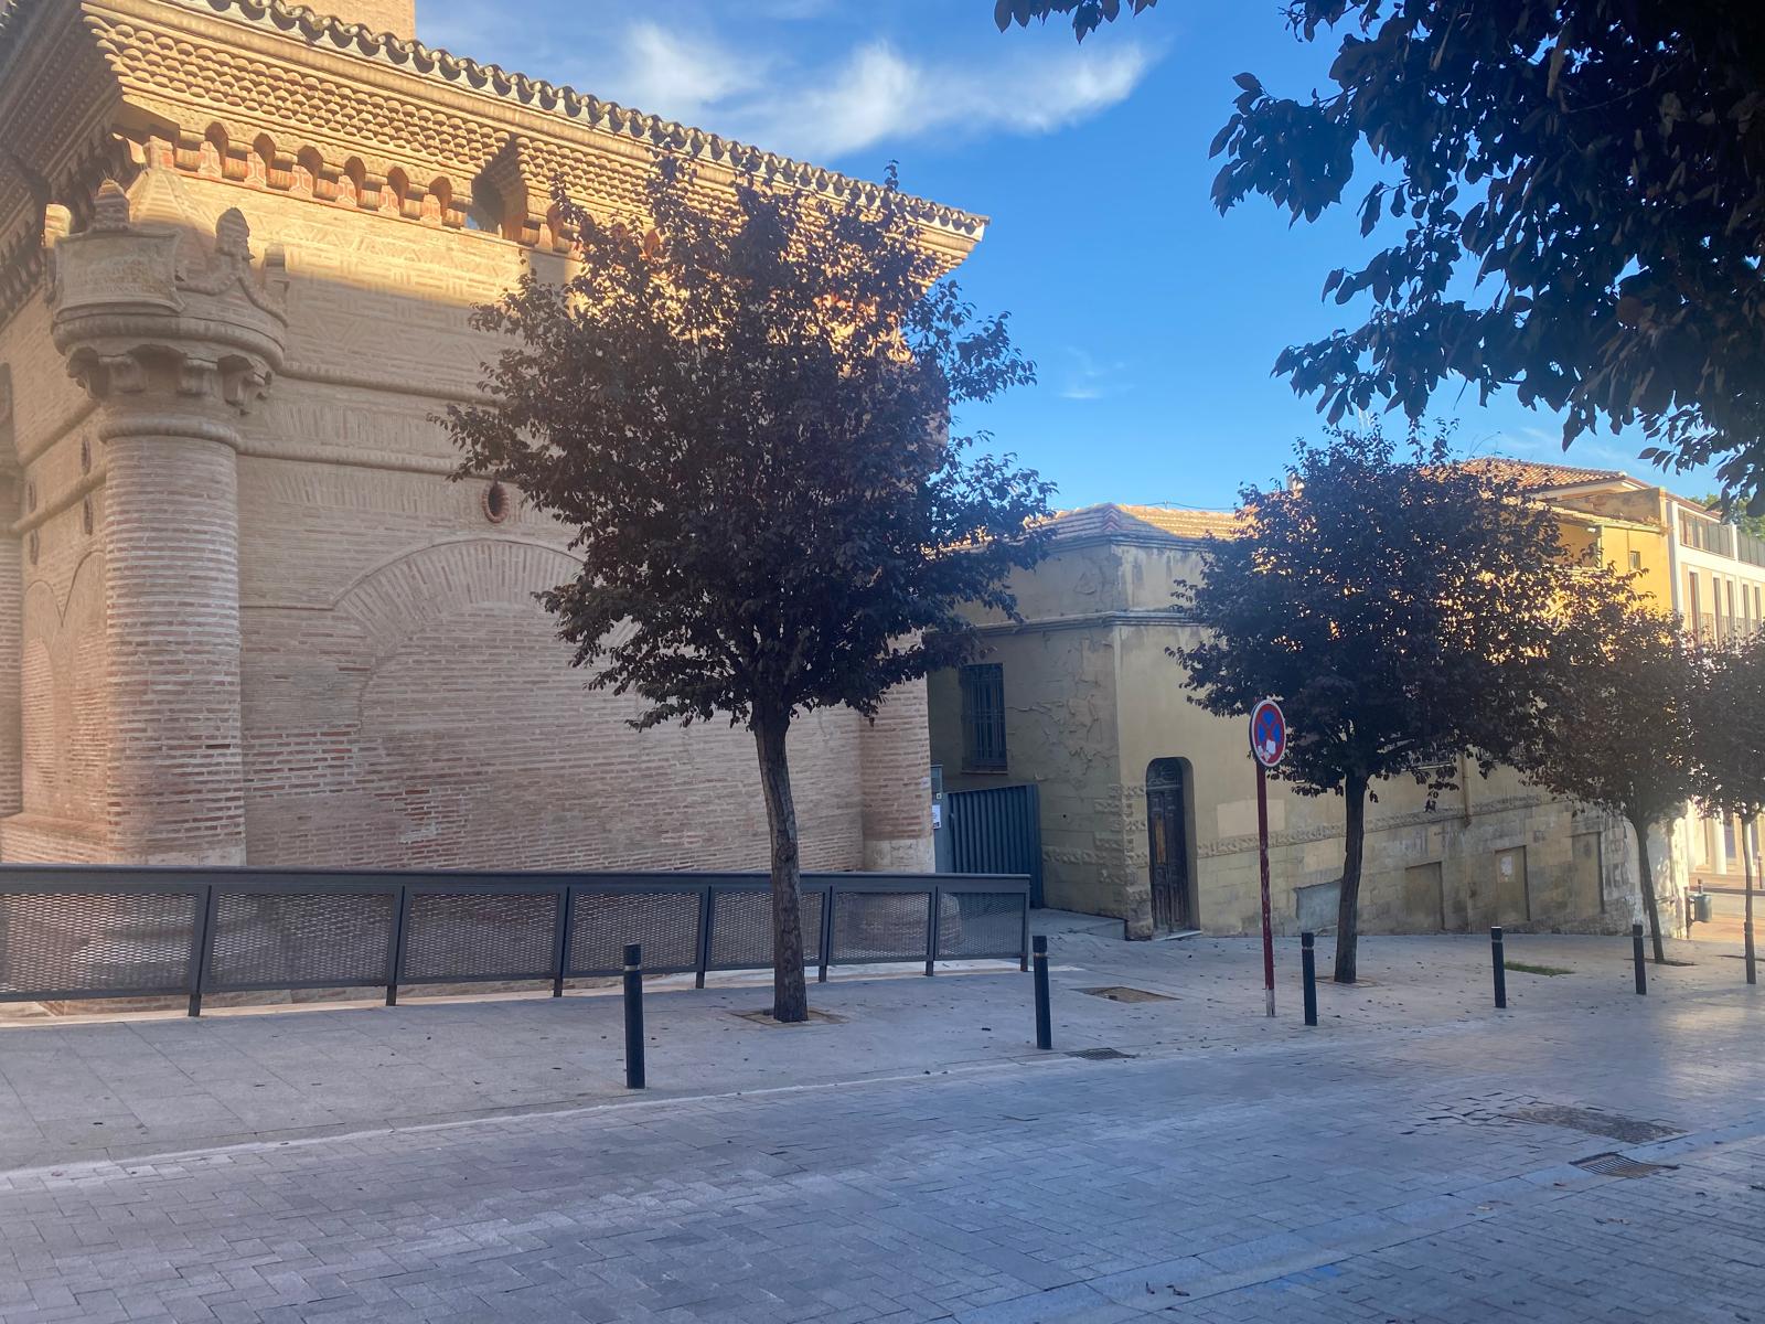
[[[600,996],[0,1027],[0,1320],[1765,1320],[1728,950],[1375,937],[1308,1031],[1047,923],[1054,1054],[1015,969],[653,992],[642,1096]]]

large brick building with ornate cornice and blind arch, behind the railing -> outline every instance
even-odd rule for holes
[[[0,0],[0,860],[759,867],[750,736],[584,687],[565,530],[432,415],[471,305],[567,272],[554,178],[867,185],[335,7]],[[792,763],[805,867],[930,867],[923,685]]]

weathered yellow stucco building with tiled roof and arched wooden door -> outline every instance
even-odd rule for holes
[[[1566,556],[1638,570],[1640,586],[1675,607],[1680,558],[1668,515],[1680,498],[1608,470],[1477,463],[1506,468],[1550,505]],[[1017,577],[1024,621],[983,620],[987,655],[932,676],[943,787],[1038,787],[1048,906],[1117,916],[1140,937],[1260,927],[1244,722],[1190,703],[1167,651],[1195,639],[1172,586],[1200,577],[1207,535],[1232,528],[1232,515],[1205,510],[1064,512],[1048,560]],[[1410,779],[1375,787],[1361,883],[1368,932],[1613,932],[1641,918],[1636,842],[1620,819],[1555,800],[1511,770],[1484,779],[1468,768],[1458,782],[1433,807]],[[1650,846],[1668,932],[1686,927],[1693,823]],[[1271,782],[1269,833],[1276,932],[1334,925],[1341,800]]]

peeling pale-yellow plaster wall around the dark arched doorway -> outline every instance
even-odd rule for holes
[[[1048,906],[1117,916],[1142,936],[1151,932],[1145,775],[1167,757],[1193,770],[1198,923],[1220,934],[1260,927],[1257,782],[1243,722],[1190,703],[1167,651],[1193,639],[1165,614],[1172,583],[1193,574],[1193,544],[1119,542],[1061,549],[1020,577],[1025,623],[987,634],[985,660],[1004,667],[1004,775],[958,771],[960,685],[955,673],[932,681],[934,761],[946,787],[1040,784]],[[1433,807],[1407,779],[1377,794],[1361,884],[1368,932],[1491,923],[1615,932],[1641,918],[1634,839],[1599,810],[1553,800],[1511,770],[1483,779],[1472,768]],[[1269,831],[1274,927],[1296,934],[1303,890],[1324,888],[1304,893],[1310,913],[1341,876],[1343,803],[1271,782]],[[1654,844],[1663,923],[1675,930],[1689,876],[1682,835]]]

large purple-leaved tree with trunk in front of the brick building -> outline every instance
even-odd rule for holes
[[[1052,491],[976,455],[955,408],[1033,380],[921,242],[893,171],[844,203],[658,162],[653,229],[560,196],[579,263],[475,312],[507,348],[452,406],[459,475],[561,521],[581,572],[540,595],[588,683],[637,726],[755,734],[771,828],[775,1015],[801,1020],[800,851],[785,736],[877,711],[974,646],[960,607],[1015,609]]]

